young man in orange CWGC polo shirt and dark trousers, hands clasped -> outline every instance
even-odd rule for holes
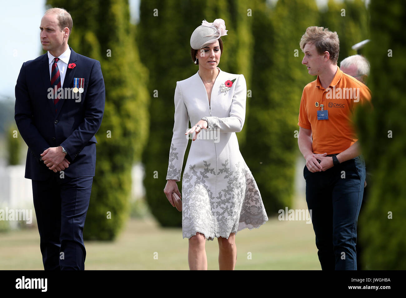
[[[300,40],[302,64],[317,79],[303,89],[298,145],[306,166],[306,201],[322,270],[356,270],[356,225],[365,161],[354,132],[354,109],[371,100],[367,86],[337,66],[336,32],[309,27]]]

